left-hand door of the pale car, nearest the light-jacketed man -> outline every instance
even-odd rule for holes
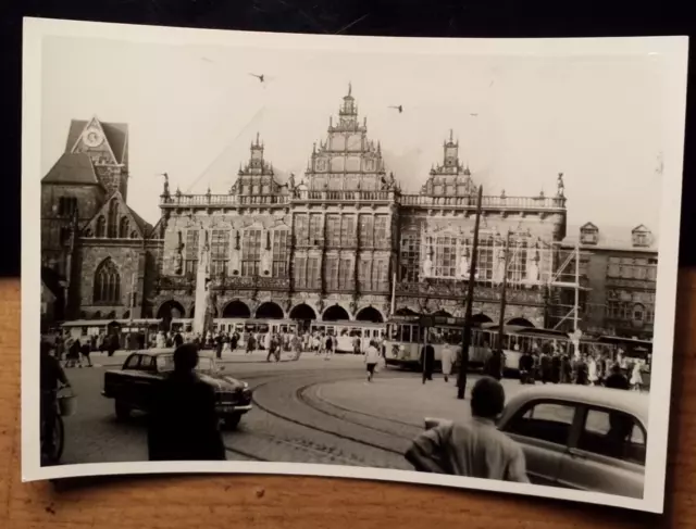
[[[552,400],[532,400],[500,425],[524,452],[526,473],[535,484],[556,486],[577,407]]]

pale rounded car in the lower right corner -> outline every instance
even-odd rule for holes
[[[426,418],[425,428],[446,421]],[[535,386],[508,401],[498,429],[520,443],[535,484],[643,497],[646,393]]]

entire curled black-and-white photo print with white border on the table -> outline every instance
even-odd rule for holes
[[[25,43],[25,479],[661,512],[686,39]]]

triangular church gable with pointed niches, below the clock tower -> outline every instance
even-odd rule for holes
[[[150,225],[128,207],[116,191],[83,228],[83,237],[98,239],[142,239]]]

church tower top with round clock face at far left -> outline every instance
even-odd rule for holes
[[[128,126],[125,123],[73,119],[65,152],[87,154],[107,198],[120,191],[128,198]]]

